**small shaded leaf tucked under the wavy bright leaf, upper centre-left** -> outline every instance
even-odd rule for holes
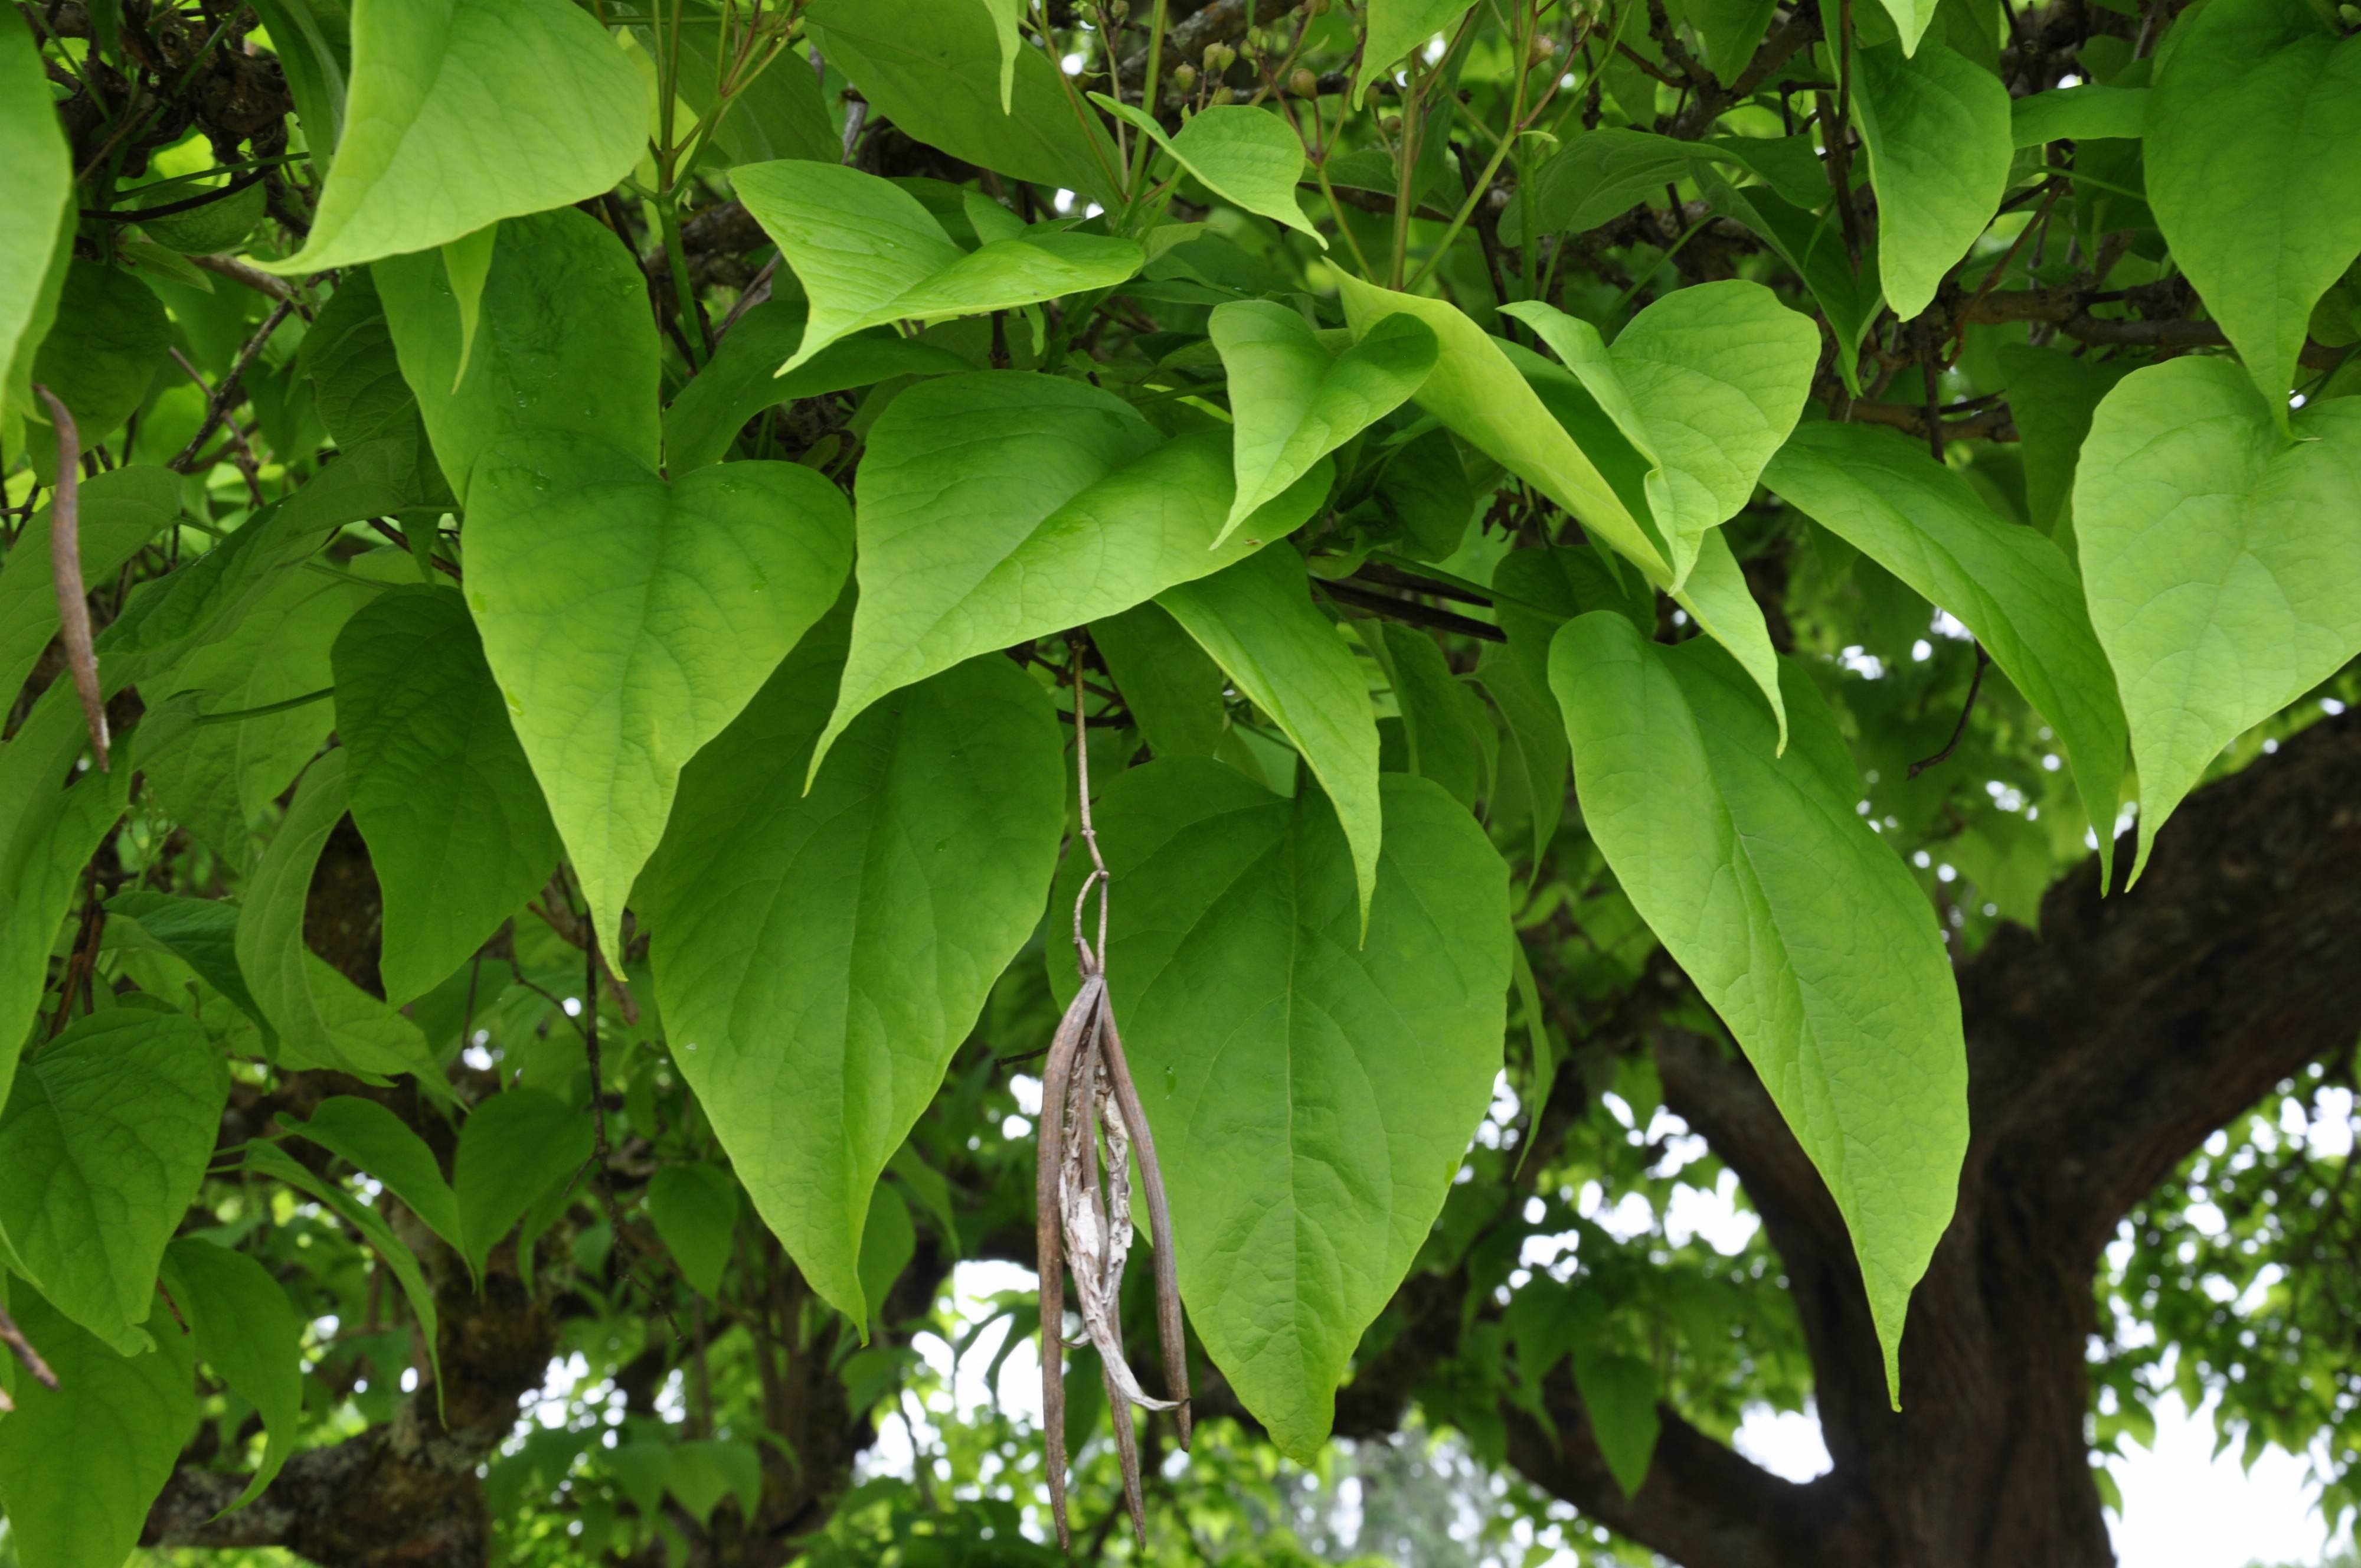
[[[678,479],[692,468],[720,463],[737,432],[763,409],[895,375],[959,375],[975,368],[933,342],[878,328],[841,338],[810,364],[779,375],[779,364],[803,340],[803,321],[805,307],[791,300],[767,300],[739,316],[706,368],[663,411],[663,472]]]

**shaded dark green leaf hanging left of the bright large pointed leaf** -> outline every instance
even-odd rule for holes
[[[394,588],[345,623],[335,727],[352,753],[352,819],[385,895],[378,968],[399,1006],[541,890],[557,827],[451,588]]]

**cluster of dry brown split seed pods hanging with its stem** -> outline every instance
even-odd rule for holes
[[[1140,1450],[1131,1407],[1173,1410],[1180,1448],[1188,1448],[1188,1358],[1180,1339],[1180,1275],[1173,1263],[1171,1209],[1164,1171],[1147,1131],[1140,1091],[1124,1060],[1107,997],[1107,862],[1091,827],[1091,756],[1084,727],[1081,649],[1074,649],[1074,777],[1081,793],[1081,843],[1091,874],[1074,895],[1074,966],[1081,989],[1058,1023],[1041,1070],[1041,1159],[1034,1169],[1034,1247],[1041,1266],[1041,1422],[1048,1448],[1048,1502],[1058,1518],[1058,1544],[1072,1544],[1065,1509],[1065,1275],[1074,1270],[1074,1306],[1088,1341],[1098,1348],[1114,1452],[1124,1471],[1124,1504],[1131,1528],[1147,1542],[1147,1507],[1140,1497]],[[1098,942],[1084,937],[1081,914],[1098,893]],[[1150,1398],[1124,1355],[1121,1294],[1131,1254],[1131,1164],[1140,1167],[1147,1200],[1147,1235],[1157,1249],[1157,1339],[1164,1351],[1164,1384],[1171,1400]]]

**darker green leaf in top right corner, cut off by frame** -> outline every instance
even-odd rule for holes
[[[2285,430],[2304,324],[2361,253],[2361,40],[2302,0],[2193,12],[2144,151],[2172,260]]]

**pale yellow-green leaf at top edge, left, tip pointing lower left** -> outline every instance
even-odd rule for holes
[[[297,274],[430,253],[600,196],[645,153],[652,97],[645,57],[569,0],[354,0],[345,135],[312,231],[257,264]]]

